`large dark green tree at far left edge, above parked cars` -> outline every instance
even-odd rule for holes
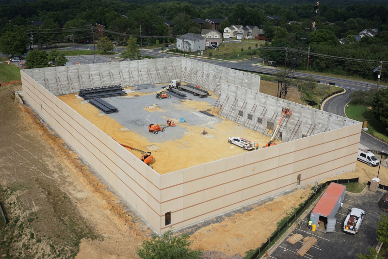
[[[4,32],[0,37],[0,51],[7,56],[23,55],[28,52],[29,43],[26,32]]]

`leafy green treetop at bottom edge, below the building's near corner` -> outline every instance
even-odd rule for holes
[[[136,254],[142,259],[197,259],[202,252],[189,248],[189,238],[187,234],[174,237],[173,231],[169,229],[162,237],[153,234],[151,240],[143,240]]]

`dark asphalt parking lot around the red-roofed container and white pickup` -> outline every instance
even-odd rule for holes
[[[310,214],[304,218],[304,226],[296,227],[292,234],[301,234],[304,238],[313,236],[318,239],[316,245],[307,251],[303,258],[309,259],[355,259],[356,254],[368,253],[368,247],[375,248],[377,245],[376,225],[377,220],[381,219],[380,210],[382,198],[386,193],[367,191],[362,196],[351,196],[345,194],[343,207],[339,208],[336,218],[337,225],[334,233],[324,233],[321,231],[311,231],[307,229],[307,222]],[[349,235],[342,231],[342,226],[345,221],[348,209],[358,208],[365,210],[366,216],[361,224],[361,227],[356,235]],[[387,212],[388,213],[388,212]],[[286,238],[287,239],[287,238]],[[303,242],[300,241],[292,245],[284,240],[271,254],[275,259],[301,259],[301,256],[296,255],[296,249],[300,249]]]

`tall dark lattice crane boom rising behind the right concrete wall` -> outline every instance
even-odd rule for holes
[[[279,93],[277,96],[278,98],[285,99],[287,96],[288,90],[290,89],[290,86],[291,86],[291,81],[292,81],[294,74],[295,74],[295,70],[299,66],[299,62],[300,62],[301,57],[302,57],[303,48],[307,44],[307,35],[310,32],[311,28],[314,27],[314,25],[315,25],[314,20],[315,20],[315,16],[317,15],[317,12],[318,12],[318,5],[319,5],[319,2],[317,2],[317,4],[314,6],[314,10],[312,11],[310,18],[308,19],[306,28],[303,31],[302,37],[299,41],[298,48],[296,49],[296,53],[294,54],[294,56],[291,60],[291,65],[289,65],[289,70],[288,70],[288,73],[286,76],[286,78],[288,78],[288,79],[285,82],[283,82],[283,84],[280,86],[280,93],[278,90],[278,93]],[[286,53],[287,53],[287,50],[286,50]],[[287,60],[287,55],[286,55],[286,60]]]

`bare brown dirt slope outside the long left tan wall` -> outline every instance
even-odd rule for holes
[[[137,258],[151,230],[32,110],[13,101],[20,89],[0,87],[0,200],[9,221],[0,230],[1,256]]]

